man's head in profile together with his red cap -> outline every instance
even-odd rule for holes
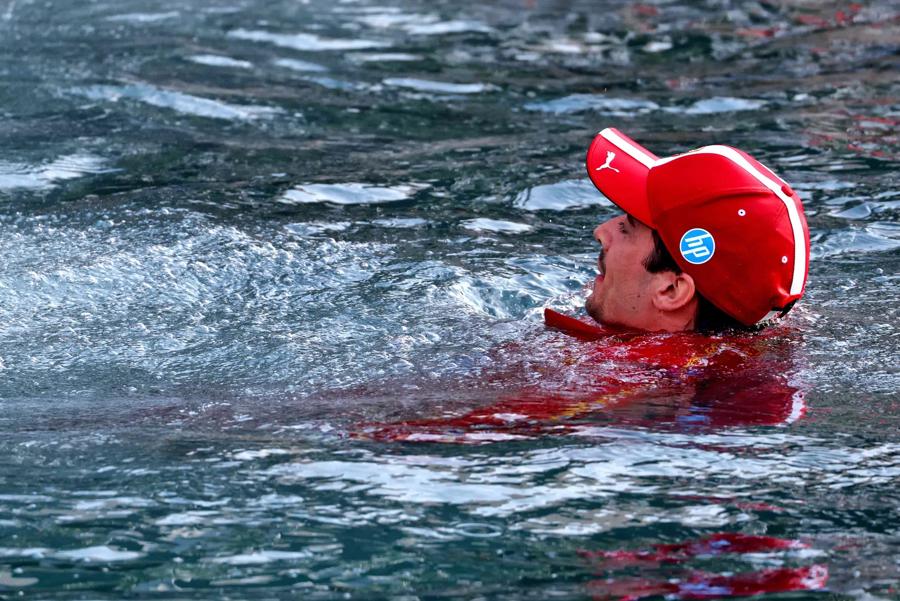
[[[659,158],[615,129],[588,173],[625,215],[594,230],[600,274],[585,306],[604,325],[649,331],[756,327],[803,296],[809,229],[800,198],[736,148]]]

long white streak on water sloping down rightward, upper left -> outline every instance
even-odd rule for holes
[[[87,87],[73,88],[72,91],[91,100],[108,100],[114,103],[122,98],[128,98],[141,103],[172,109],[175,112],[183,112],[184,114],[198,117],[211,117],[213,119],[250,121],[272,117],[275,114],[284,112],[284,109],[278,107],[222,103],[218,100],[201,98],[181,92],[160,90],[151,85],[89,85]]]

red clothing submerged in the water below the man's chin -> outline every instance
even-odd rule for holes
[[[706,336],[593,326],[546,309],[567,341],[561,364],[532,388],[459,417],[359,426],[374,440],[484,444],[541,435],[593,435],[608,426],[716,429],[775,426],[806,410],[796,332]],[[578,341],[572,340],[572,337]]]

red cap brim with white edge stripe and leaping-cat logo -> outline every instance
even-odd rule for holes
[[[621,131],[607,128],[590,145],[588,175],[619,209],[655,229],[647,202],[647,175],[658,158]]]

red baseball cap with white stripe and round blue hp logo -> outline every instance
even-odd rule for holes
[[[613,128],[588,150],[600,192],[657,230],[698,291],[745,326],[787,312],[809,273],[803,204],[768,167],[737,148],[656,157]]]

